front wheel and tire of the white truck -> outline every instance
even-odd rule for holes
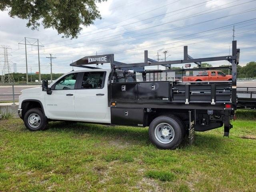
[[[44,116],[42,109],[32,108],[24,115],[24,124],[30,131],[45,130],[48,125],[48,119]]]

